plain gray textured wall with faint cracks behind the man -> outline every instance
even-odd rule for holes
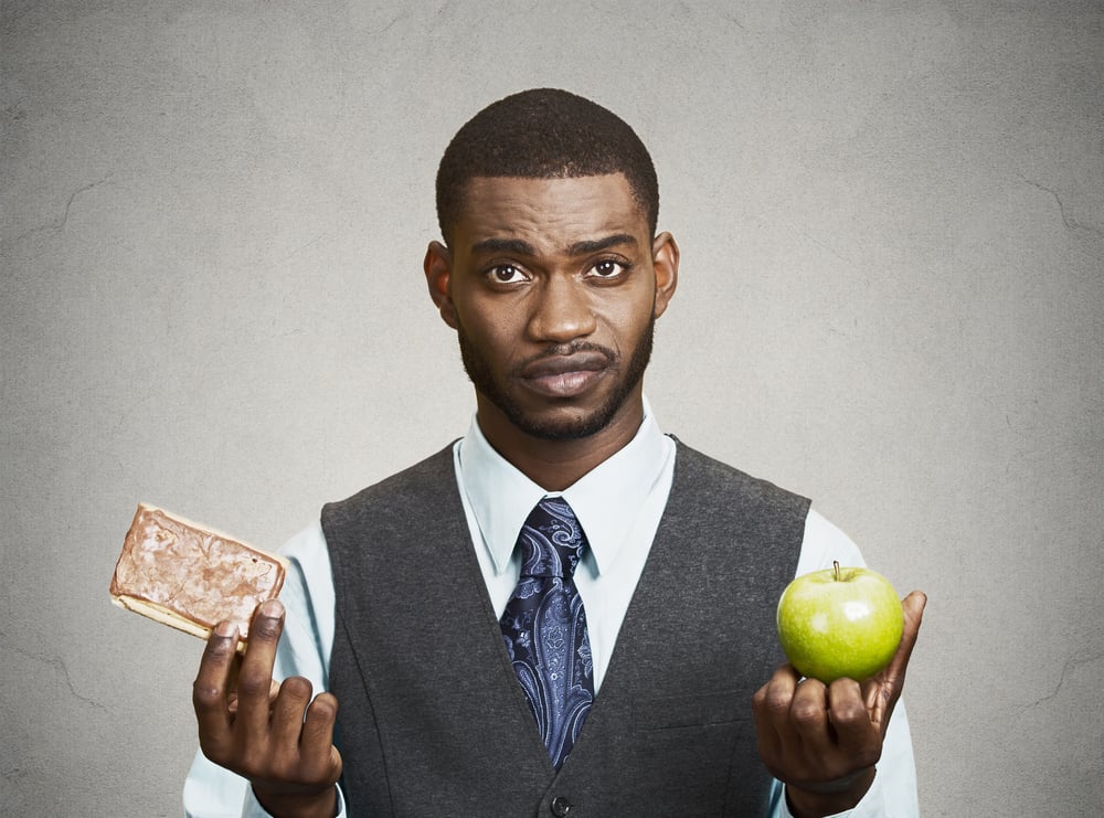
[[[135,504],[276,548],[473,407],[424,291],[453,131],[637,127],[664,427],[931,595],[927,816],[1104,810],[1100,2],[3,3],[0,812],[179,812],[200,642]]]

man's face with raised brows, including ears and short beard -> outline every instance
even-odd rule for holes
[[[654,258],[668,244],[666,234],[652,242],[619,173],[469,183],[452,246],[440,248],[438,306],[488,436],[497,423],[554,440],[587,437],[629,411],[639,422],[655,319],[673,290],[673,272],[661,261],[657,276]]]

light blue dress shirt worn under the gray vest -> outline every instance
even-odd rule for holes
[[[516,553],[518,532],[533,506],[549,492],[503,459],[484,438],[473,418],[468,434],[454,448],[456,481],[487,589],[499,615],[521,571]],[[575,572],[586,608],[594,657],[595,692],[601,689],[617,633],[651,549],[675,475],[675,443],[659,431],[645,402],[636,437],[561,493],[586,531],[590,549]],[[333,642],[333,583],[321,523],[316,522],[282,550],[291,569],[280,601],[287,610],[276,656],[275,676],[302,676],[315,692],[326,689]],[[816,511],[809,511],[797,575],[843,565],[863,565],[858,548]],[[766,679],[763,680],[764,682]],[[751,707],[749,704],[749,707]],[[253,797],[248,782],[197,753],[184,783],[184,811],[194,818],[268,814]],[[346,816],[338,796],[340,816]],[[904,703],[890,722],[878,775],[862,801],[841,812],[848,818],[916,818],[916,775]],[[765,818],[792,818],[783,785],[775,783]]]

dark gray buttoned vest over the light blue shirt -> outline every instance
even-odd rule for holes
[[[452,447],[322,509],[342,788],[369,816],[763,816],[751,697],[808,500],[678,444],[602,689],[549,762],[473,551]]]

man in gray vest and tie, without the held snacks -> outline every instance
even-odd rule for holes
[[[190,812],[915,814],[894,705],[924,597],[873,680],[776,668],[788,580],[861,557],[660,434],[643,375],[679,251],[658,201],[633,130],[566,92],[456,135],[424,269],[476,417],[286,546],[286,614],[261,606],[236,686],[215,629]]]

